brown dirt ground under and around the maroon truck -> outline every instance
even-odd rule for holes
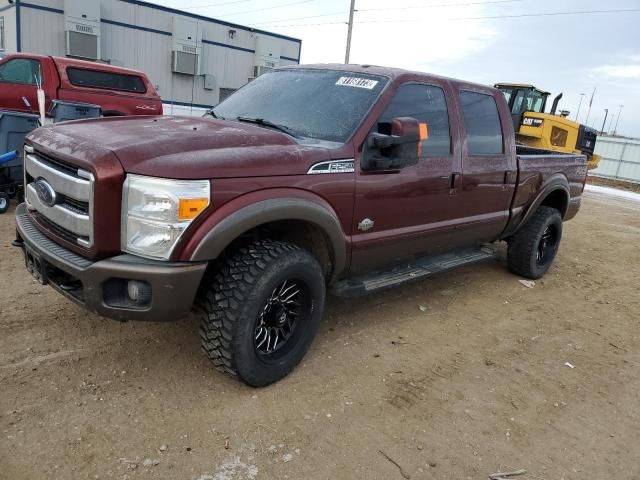
[[[215,371],[195,317],[36,284],[0,217],[0,478],[640,478],[640,203],[586,194],[527,288],[499,261],[330,298],[292,375]],[[422,308],[421,308],[422,307]]]

